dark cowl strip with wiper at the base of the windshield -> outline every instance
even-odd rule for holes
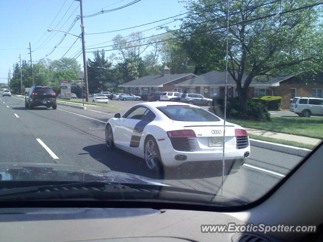
[[[0,190],[0,202],[39,200],[159,201],[238,206],[245,201],[196,190],[150,184],[90,181]]]

